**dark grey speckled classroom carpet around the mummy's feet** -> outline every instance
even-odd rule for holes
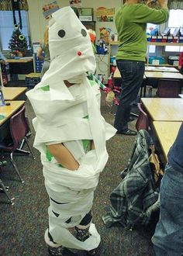
[[[102,92],[102,115],[111,124],[114,122],[115,107],[106,105]],[[33,119],[33,109],[26,100],[26,114]],[[135,129],[136,120],[129,123]],[[33,145],[35,133],[31,125]],[[120,172],[126,168],[135,137],[116,135],[107,142],[109,161],[100,175],[98,188],[92,208],[93,222],[102,238],[98,255],[101,256],[151,256],[154,255],[151,237],[156,221],[147,227],[134,227],[126,230],[120,225],[106,228],[102,222],[105,207],[109,206],[109,195],[121,181]],[[24,147],[27,149],[26,146]],[[49,199],[44,187],[40,153],[33,148],[36,160],[29,156],[15,156],[16,164],[25,180],[22,184],[12,168],[7,164],[0,172],[0,178],[9,185],[9,194],[15,197],[15,204],[7,204],[4,194],[0,193],[0,255],[2,256],[46,256],[47,245],[43,234],[48,226],[47,208]],[[86,255],[77,251],[78,256]],[[67,254],[69,255],[69,254]]]

